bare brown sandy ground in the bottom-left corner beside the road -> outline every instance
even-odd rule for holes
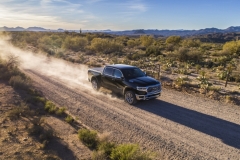
[[[23,97],[11,86],[0,81],[0,160],[5,159],[91,159],[91,150],[77,137],[77,130],[54,115],[42,116],[44,126],[54,131],[45,149],[36,136],[29,135],[29,118],[9,120],[7,113],[24,104]],[[80,126],[82,128],[82,126]]]

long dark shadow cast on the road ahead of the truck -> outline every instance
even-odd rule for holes
[[[136,107],[192,128],[240,149],[240,125],[211,115],[183,108],[159,99],[142,101]]]

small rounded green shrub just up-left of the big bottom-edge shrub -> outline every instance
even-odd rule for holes
[[[78,138],[90,149],[96,149],[98,145],[98,136],[96,131],[80,129]]]

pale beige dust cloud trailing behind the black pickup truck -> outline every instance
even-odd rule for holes
[[[61,59],[47,57],[41,53],[32,53],[14,47],[10,43],[10,37],[0,37],[0,57],[7,59],[9,55],[17,56],[19,68],[33,70],[45,76],[54,76],[67,83],[68,86],[89,89],[87,81],[88,67],[80,64],[73,64]]]

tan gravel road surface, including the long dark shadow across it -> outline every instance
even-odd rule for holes
[[[78,84],[26,70],[55,103],[113,141],[139,143],[167,159],[240,159],[240,107],[163,90],[156,100],[130,106]],[[86,82],[87,83],[87,82]],[[88,83],[87,83],[88,84]]]

